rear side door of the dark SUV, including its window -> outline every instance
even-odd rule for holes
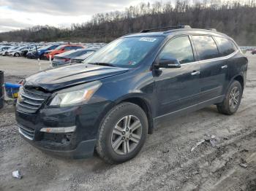
[[[200,101],[208,101],[222,95],[227,81],[227,61],[220,58],[212,36],[193,35],[192,41],[200,63]]]

